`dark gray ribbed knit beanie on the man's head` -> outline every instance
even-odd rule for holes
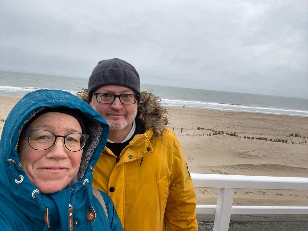
[[[122,59],[106,59],[99,61],[93,69],[88,83],[88,101],[91,102],[93,92],[105,85],[121,85],[136,92],[140,101],[140,79],[135,67]]]

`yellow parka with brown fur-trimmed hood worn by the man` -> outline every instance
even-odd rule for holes
[[[105,147],[93,187],[111,197],[125,231],[198,230],[196,195],[183,150],[160,99],[143,91],[138,105],[144,134],[135,135],[120,159]],[[118,162],[117,162],[118,161]]]

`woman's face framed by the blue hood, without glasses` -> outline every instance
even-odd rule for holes
[[[60,112],[40,115],[26,129],[44,129],[60,136],[82,133],[75,117]],[[56,144],[43,151],[31,148],[26,134],[19,144],[22,168],[42,193],[55,193],[67,187],[78,173],[82,152],[69,151],[63,144],[63,137],[57,137]]]

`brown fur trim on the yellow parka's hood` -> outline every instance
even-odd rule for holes
[[[82,88],[77,96],[88,102],[88,90]],[[139,119],[144,125],[145,130],[153,129],[153,138],[161,136],[168,122],[168,110],[164,107],[162,100],[152,95],[149,91],[141,91],[140,103],[138,104]]]

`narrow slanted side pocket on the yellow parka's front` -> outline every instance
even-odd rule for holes
[[[160,222],[164,220],[166,203],[169,195],[169,183],[167,175],[160,178],[157,183],[159,208],[160,208]]]

